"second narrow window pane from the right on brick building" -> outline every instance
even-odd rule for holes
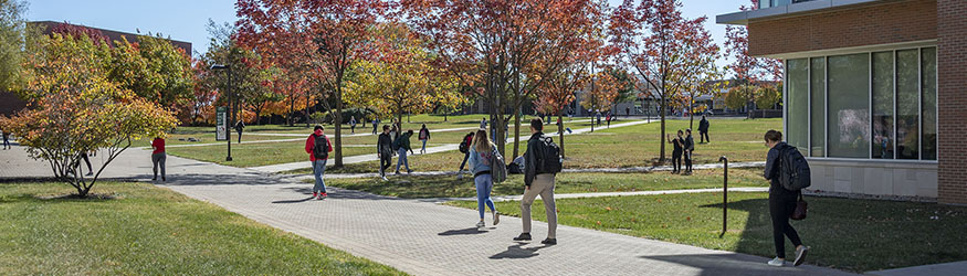
[[[919,159],[919,51],[896,51],[896,157]]]

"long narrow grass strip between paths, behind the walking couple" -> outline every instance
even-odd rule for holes
[[[395,167],[393,167],[395,168]],[[328,171],[327,171],[328,172]],[[733,169],[730,187],[768,187],[760,170]],[[473,179],[456,176],[445,177],[389,177],[379,179],[327,179],[326,184],[357,191],[400,198],[469,198],[476,197]],[[307,180],[312,181],[312,180]],[[722,170],[700,170],[693,176],[669,172],[652,173],[561,173],[557,177],[557,193],[626,192],[679,189],[722,188]],[[513,174],[503,183],[494,185],[494,195],[524,193],[524,178]]]

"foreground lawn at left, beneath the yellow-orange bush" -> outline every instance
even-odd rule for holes
[[[0,275],[402,275],[143,183],[0,184]]]

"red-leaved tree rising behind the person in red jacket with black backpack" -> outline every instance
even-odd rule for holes
[[[239,0],[235,3],[239,41],[267,56],[291,74],[314,79],[324,98],[336,104],[334,113],[335,167],[343,167],[343,86],[369,28],[381,19],[389,3],[381,0]],[[296,78],[297,79],[297,78]],[[329,100],[323,100],[328,107]],[[327,108],[328,109],[328,108]]]

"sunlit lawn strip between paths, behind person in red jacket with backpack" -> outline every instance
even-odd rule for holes
[[[169,155],[178,157],[242,168],[297,161],[306,161],[306,163],[308,163],[308,153],[305,152],[305,141],[232,144],[232,161],[225,161],[225,155],[228,153],[225,145],[167,148],[166,151]],[[369,147],[343,148],[343,156],[347,157],[374,152],[376,152],[376,150]],[[335,153],[329,152],[330,160],[334,157]]]

